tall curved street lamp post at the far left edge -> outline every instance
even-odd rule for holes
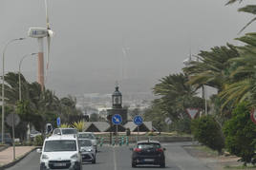
[[[2,73],[2,143],[5,143],[5,52],[7,47],[15,41],[24,40],[25,38],[15,38],[9,41],[3,50],[3,73]]]

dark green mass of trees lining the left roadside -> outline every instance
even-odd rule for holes
[[[18,73],[9,72],[5,75],[5,117],[10,113],[17,113],[20,117],[20,123],[15,127],[15,134],[17,134],[15,138],[24,141],[27,138],[28,125],[44,133],[45,124],[55,125],[57,117],[61,118],[62,123],[74,123],[81,120],[82,113],[75,108],[75,98],[71,96],[58,98],[50,89],[42,91],[39,84],[29,83],[23,75],[21,75],[22,100],[19,101],[18,80]],[[11,127],[8,124],[6,127],[6,131],[11,133]]]

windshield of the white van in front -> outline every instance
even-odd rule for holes
[[[76,151],[75,140],[45,142],[44,152]]]

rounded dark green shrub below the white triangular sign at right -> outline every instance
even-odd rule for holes
[[[224,135],[221,126],[212,116],[203,116],[193,120],[191,130],[197,141],[222,154]]]

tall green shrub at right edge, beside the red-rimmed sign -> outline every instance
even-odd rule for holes
[[[232,118],[224,123],[225,146],[227,150],[246,163],[255,163],[256,125],[250,120],[248,104],[239,104],[232,112]]]

